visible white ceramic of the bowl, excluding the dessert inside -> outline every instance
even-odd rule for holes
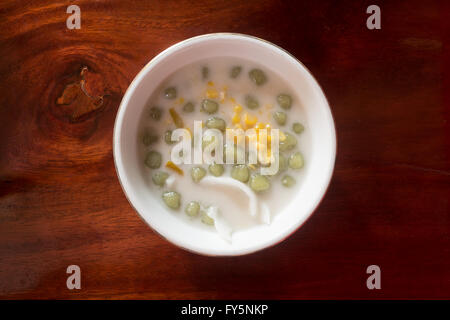
[[[137,128],[147,99],[171,73],[195,61],[233,56],[257,62],[278,73],[297,90],[311,131],[311,154],[296,198],[270,225],[233,234],[231,244],[216,233],[191,226],[168,214],[161,201],[150,197],[139,169]],[[136,76],[126,91],[114,126],[114,161],[122,188],[145,222],[173,244],[204,255],[243,255],[285,239],[311,216],[333,174],[336,133],[330,107],[317,81],[288,52],[255,37],[216,33],[190,38],[164,50]]]

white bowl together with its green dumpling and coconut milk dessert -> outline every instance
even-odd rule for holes
[[[255,252],[295,231],[325,194],[336,153],[310,72],[238,34],[194,37],[150,61],[123,97],[113,143],[144,221],[206,255]]]

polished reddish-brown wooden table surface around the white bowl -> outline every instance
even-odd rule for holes
[[[70,4],[80,30],[66,28]],[[370,4],[381,30],[366,27]],[[2,1],[0,298],[450,298],[448,12],[420,0]],[[111,148],[139,70],[180,40],[224,31],[267,39],[312,71],[338,152],[300,230],[210,258],[142,222]],[[81,290],[66,287],[72,264]],[[381,290],[366,287],[372,264]]]

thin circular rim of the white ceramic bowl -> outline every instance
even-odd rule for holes
[[[330,116],[329,118],[329,123],[331,124],[331,165],[329,167],[328,173],[327,173],[327,179],[326,179],[326,183],[324,183],[321,186],[321,197],[320,199],[318,199],[315,203],[315,205],[313,206],[312,210],[310,211],[310,213],[308,214],[308,216],[306,217],[306,219],[300,223],[297,228],[293,229],[292,231],[290,231],[287,234],[284,234],[282,237],[280,237],[279,239],[274,239],[274,241],[269,242],[268,244],[265,243],[263,245],[260,246],[254,246],[253,248],[250,249],[235,249],[235,252],[230,252],[230,253],[214,253],[214,250],[204,250],[204,251],[198,251],[198,250],[194,250],[191,249],[185,245],[183,245],[182,243],[176,243],[174,241],[172,241],[171,239],[169,239],[168,237],[164,236],[163,234],[161,234],[158,230],[156,230],[146,219],[144,219],[144,217],[141,215],[141,213],[136,209],[136,207],[134,206],[134,204],[132,203],[132,201],[130,200],[127,191],[123,185],[122,182],[122,178],[119,172],[119,168],[118,168],[118,163],[117,163],[117,157],[119,154],[118,151],[118,147],[120,145],[119,141],[120,141],[120,136],[118,134],[118,127],[120,124],[123,123],[123,116],[124,116],[124,110],[126,108],[126,106],[128,105],[129,99],[132,96],[132,94],[134,93],[138,83],[143,79],[143,77],[147,74],[148,69],[150,69],[153,65],[157,64],[159,62],[159,60],[161,60],[164,56],[170,54],[173,51],[178,50],[180,47],[183,47],[185,45],[188,45],[189,43],[192,42],[196,42],[199,40],[205,40],[208,38],[212,38],[212,39],[217,39],[220,37],[226,37],[226,38],[230,38],[230,37],[236,37],[236,38],[240,38],[240,39],[252,39],[252,40],[256,40],[259,42],[263,42],[266,45],[268,45],[268,47],[273,47],[273,49],[277,49],[279,51],[281,51],[282,53],[284,53],[285,55],[287,55],[289,58],[293,59],[294,62],[298,63],[308,74],[308,76],[312,79],[312,83],[313,85],[317,86],[317,88],[319,89],[319,92],[321,94],[321,98],[323,99],[325,106],[328,109],[328,115]],[[145,66],[136,74],[136,76],[134,77],[134,79],[131,81],[130,85],[128,86],[127,90],[125,91],[122,100],[120,102],[120,105],[117,109],[116,112],[116,118],[114,121],[114,127],[113,127],[113,139],[112,139],[112,149],[113,149],[113,159],[114,159],[114,168],[116,170],[116,175],[117,178],[119,180],[119,184],[122,188],[122,191],[125,195],[125,198],[127,199],[128,203],[131,205],[131,207],[133,208],[133,210],[137,213],[137,215],[139,216],[139,218],[147,225],[150,227],[151,230],[153,230],[157,235],[159,235],[161,238],[165,239],[167,242],[169,242],[170,244],[172,244],[175,247],[181,248],[185,251],[194,253],[194,254],[198,254],[198,255],[203,255],[203,256],[210,256],[210,257],[230,257],[230,256],[244,256],[244,255],[248,255],[248,254],[252,254],[255,252],[259,252],[268,248],[271,248],[281,242],[283,242],[284,240],[286,240],[287,238],[289,238],[290,236],[292,236],[295,232],[297,232],[317,211],[317,208],[319,207],[320,203],[322,202],[323,198],[325,197],[325,194],[328,191],[328,188],[330,186],[332,177],[333,177],[333,173],[334,173],[334,167],[336,164],[336,153],[337,153],[337,133],[336,133],[336,126],[335,126],[335,122],[334,122],[334,117],[333,117],[333,113],[332,110],[330,108],[330,104],[328,102],[328,99],[325,95],[325,92],[323,91],[322,87],[320,86],[319,82],[317,81],[317,79],[314,77],[314,75],[312,74],[312,72],[299,60],[297,59],[294,55],[292,55],[290,52],[288,52],[287,50],[283,49],[282,47],[267,41],[265,39],[253,36],[253,35],[248,35],[248,34],[243,34],[243,33],[235,33],[235,32],[217,32],[217,33],[207,33],[207,34],[202,34],[202,35],[198,35],[198,36],[194,36],[194,37],[190,37],[187,38],[185,40],[179,41],[171,46],[169,46],[168,48],[164,49],[163,51],[161,51],[160,53],[158,53],[156,56],[154,56],[152,59],[150,59],[150,61],[148,63],[145,64]],[[123,163],[122,163],[123,166]]]

